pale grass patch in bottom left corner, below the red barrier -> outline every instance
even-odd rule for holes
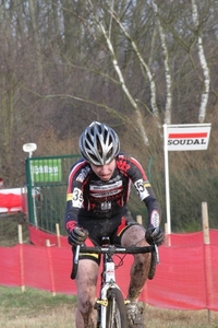
[[[74,328],[75,296],[0,286],[0,327]]]

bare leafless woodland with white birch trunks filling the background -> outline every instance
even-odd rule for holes
[[[164,122],[208,120],[217,15],[217,0],[0,1],[2,153],[92,119],[134,131],[137,144]]]

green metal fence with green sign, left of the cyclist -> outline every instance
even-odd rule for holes
[[[71,166],[80,155],[26,159],[27,213],[29,223],[56,232],[64,230],[66,185]]]

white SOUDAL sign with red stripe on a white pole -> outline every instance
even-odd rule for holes
[[[206,150],[209,143],[210,125],[168,126],[168,151]]]

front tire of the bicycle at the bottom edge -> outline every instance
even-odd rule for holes
[[[109,289],[107,293],[107,325],[106,328],[126,328],[128,317],[124,300],[119,289]]]

